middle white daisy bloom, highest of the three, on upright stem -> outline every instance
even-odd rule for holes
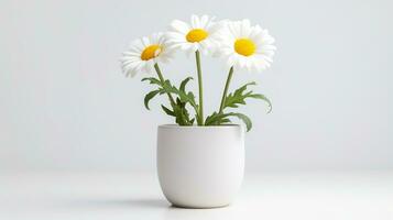
[[[200,51],[205,54],[217,47],[217,34],[221,23],[214,22],[208,15],[192,15],[190,24],[174,20],[166,34],[171,46],[182,48],[188,53]]]

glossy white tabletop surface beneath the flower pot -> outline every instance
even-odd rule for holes
[[[155,174],[36,173],[0,176],[2,220],[392,220],[392,173],[245,175],[219,209],[170,207]]]

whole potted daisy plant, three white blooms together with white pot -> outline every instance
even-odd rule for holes
[[[211,208],[227,206],[239,189],[244,167],[243,130],[232,124],[240,119],[250,131],[252,122],[243,113],[231,111],[248,99],[271,101],[249,89],[248,82],[229,92],[233,73],[245,69],[261,72],[270,67],[275,52],[274,38],[249,20],[215,21],[208,15],[192,15],[190,23],[174,20],[170,30],[135,40],[123,53],[121,67],[127,76],[154,74],[143,78],[154,86],[145,95],[144,106],[154,97],[166,96],[162,110],[177,125],[160,125],[157,138],[159,179],[165,197],[175,206]],[[177,51],[195,54],[198,96],[186,89],[193,79],[186,77],[179,86],[165,78],[160,65]],[[223,61],[228,67],[217,111],[205,117],[201,55]],[[196,125],[195,125],[196,124]]]

